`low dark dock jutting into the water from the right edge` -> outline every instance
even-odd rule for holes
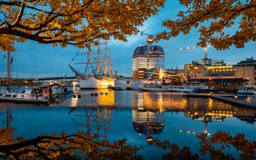
[[[202,97],[212,98],[213,100],[219,100],[228,103],[232,106],[240,107],[252,107],[256,108],[256,102],[247,101],[245,95],[229,95],[229,94],[183,94],[183,97]]]

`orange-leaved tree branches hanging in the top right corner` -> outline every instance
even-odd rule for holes
[[[177,20],[164,21],[163,26],[170,31],[161,32],[157,39],[188,34],[191,28],[200,26],[197,45],[201,47],[211,43],[220,50],[229,49],[232,45],[243,48],[245,43],[256,40],[255,0],[180,0],[180,3],[187,10],[180,11]],[[235,30],[230,30],[230,27]]]

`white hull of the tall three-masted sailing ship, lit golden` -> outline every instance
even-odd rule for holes
[[[111,78],[96,79],[96,77],[79,78],[80,89],[109,89],[113,88],[114,81]]]

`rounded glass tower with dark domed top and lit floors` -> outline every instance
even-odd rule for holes
[[[132,57],[134,79],[142,78],[141,72],[165,67],[164,49],[152,43],[154,43],[153,37],[148,37],[146,45],[140,45],[135,49]]]

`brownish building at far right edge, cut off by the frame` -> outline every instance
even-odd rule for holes
[[[248,84],[255,84],[256,80],[256,60],[247,58],[241,60],[236,65],[236,77],[241,77],[248,80]]]

